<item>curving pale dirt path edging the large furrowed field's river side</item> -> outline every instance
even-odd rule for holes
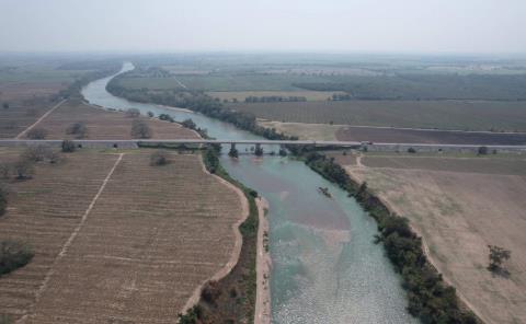
[[[203,169],[203,172],[206,175],[213,176],[214,178],[219,181],[221,184],[232,189],[238,195],[241,202],[241,217],[231,227],[235,234],[235,244],[233,244],[232,253],[230,254],[229,261],[217,273],[215,273],[214,276],[204,280],[199,286],[197,286],[197,288],[195,288],[194,292],[192,293],[192,296],[188,298],[183,309],[181,310],[181,313],[183,314],[186,313],[187,310],[190,310],[192,306],[194,306],[199,302],[201,291],[203,290],[203,287],[205,286],[206,282],[210,280],[218,281],[225,278],[226,276],[228,276],[228,274],[232,271],[233,267],[238,264],[239,256],[241,255],[241,247],[243,245],[243,235],[241,235],[241,231],[239,227],[249,218],[249,213],[250,213],[249,199],[247,198],[247,196],[244,196],[244,193],[235,184],[224,180],[217,174],[213,174],[208,172],[208,170],[206,170],[205,163],[203,162],[203,157],[201,154],[199,154],[199,163]]]

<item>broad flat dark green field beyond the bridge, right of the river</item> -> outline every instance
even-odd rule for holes
[[[525,102],[344,101],[238,103],[229,107],[276,121],[526,131]]]

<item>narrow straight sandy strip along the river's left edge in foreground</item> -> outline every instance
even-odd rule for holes
[[[268,246],[268,220],[266,211],[268,202],[265,198],[256,198],[258,213],[260,224],[258,228],[258,256],[256,256],[256,280],[258,289],[255,297],[254,324],[271,323],[271,287],[270,274],[272,268],[271,255],[267,251]]]

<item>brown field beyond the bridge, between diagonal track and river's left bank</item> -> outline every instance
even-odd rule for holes
[[[155,139],[196,139],[197,134],[179,124],[140,117],[152,130]],[[108,112],[78,101],[68,101],[38,123],[48,131],[47,139],[73,139],[67,134],[68,127],[83,121],[88,134],[84,139],[132,139],[133,118],[122,112]]]

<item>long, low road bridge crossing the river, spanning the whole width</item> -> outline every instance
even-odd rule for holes
[[[235,148],[240,146],[311,146],[319,148],[355,148],[373,150],[373,151],[407,151],[412,148],[416,151],[477,151],[484,144],[454,144],[454,143],[386,143],[369,141],[319,141],[319,140],[262,140],[262,139],[104,139],[90,140],[78,139],[72,140],[82,148],[126,148],[134,149],[142,146],[162,146],[162,144],[229,144]],[[62,140],[59,139],[0,139],[0,147],[28,147],[46,144],[50,147],[60,147]],[[506,152],[526,152],[526,146],[484,146],[489,151],[506,151]]]

